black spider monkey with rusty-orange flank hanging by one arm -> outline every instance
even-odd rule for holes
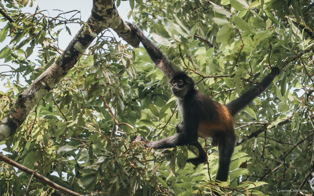
[[[188,159],[193,165],[206,162],[206,153],[198,137],[213,138],[212,145],[218,146],[219,168],[216,180],[227,181],[231,156],[235,148],[236,134],[233,128],[233,117],[255,97],[263,93],[271,84],[275,76],[279,74],[279,68],[273,67],[268,76],[261,82],[251,87],[239,98],[226,105],[221,105],[199,92],[194,87],[192,78],[185,72],[177,71],[168,58],[154,43],[145,37],[138,26],[127,23],[133,34],[144,45],[150,58],[160,68],[171,84],[171,91],[177,97],[177,105],[182,121],[176,126],[176,134],[158,141],[148,141],[142,136],[135,135],[133,141],[141,141],[145,146],[162,149],[181,145],[193,145],[199,155]]]

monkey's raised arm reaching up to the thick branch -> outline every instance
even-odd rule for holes
[[[141,31],[141,29],[138,28],[138,26],[128,22],[127,25],[130,27],[132,32],[138,37],[138,39],[142,42],[145,50],[147,51],[152,61],[156,64],[158,68],[161,69],[161,71],[165,73],[165,75],[170,80],[174,76],[176,70],[168,61],[167,56],[165,56],[162,53],[162,51],[157,46],[155,46],[151,40],[145,37],[145,35]]]

